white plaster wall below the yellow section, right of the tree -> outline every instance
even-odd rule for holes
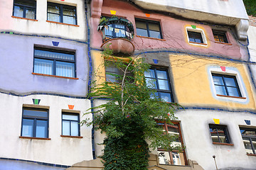
[[[256,126],[256,115],[226,111],[186,110],[176,113],[181,120],[183,142],[186,145],[187,159],[195,160],[203,169],[215,169],[213,155],[218,169],[255,169],[256,157],[247,156],[238,125],[246,125],[245,120]],[[227,125],[233,146],[213,145],[208,124],[213,118],[220,119],[220,125]]]

